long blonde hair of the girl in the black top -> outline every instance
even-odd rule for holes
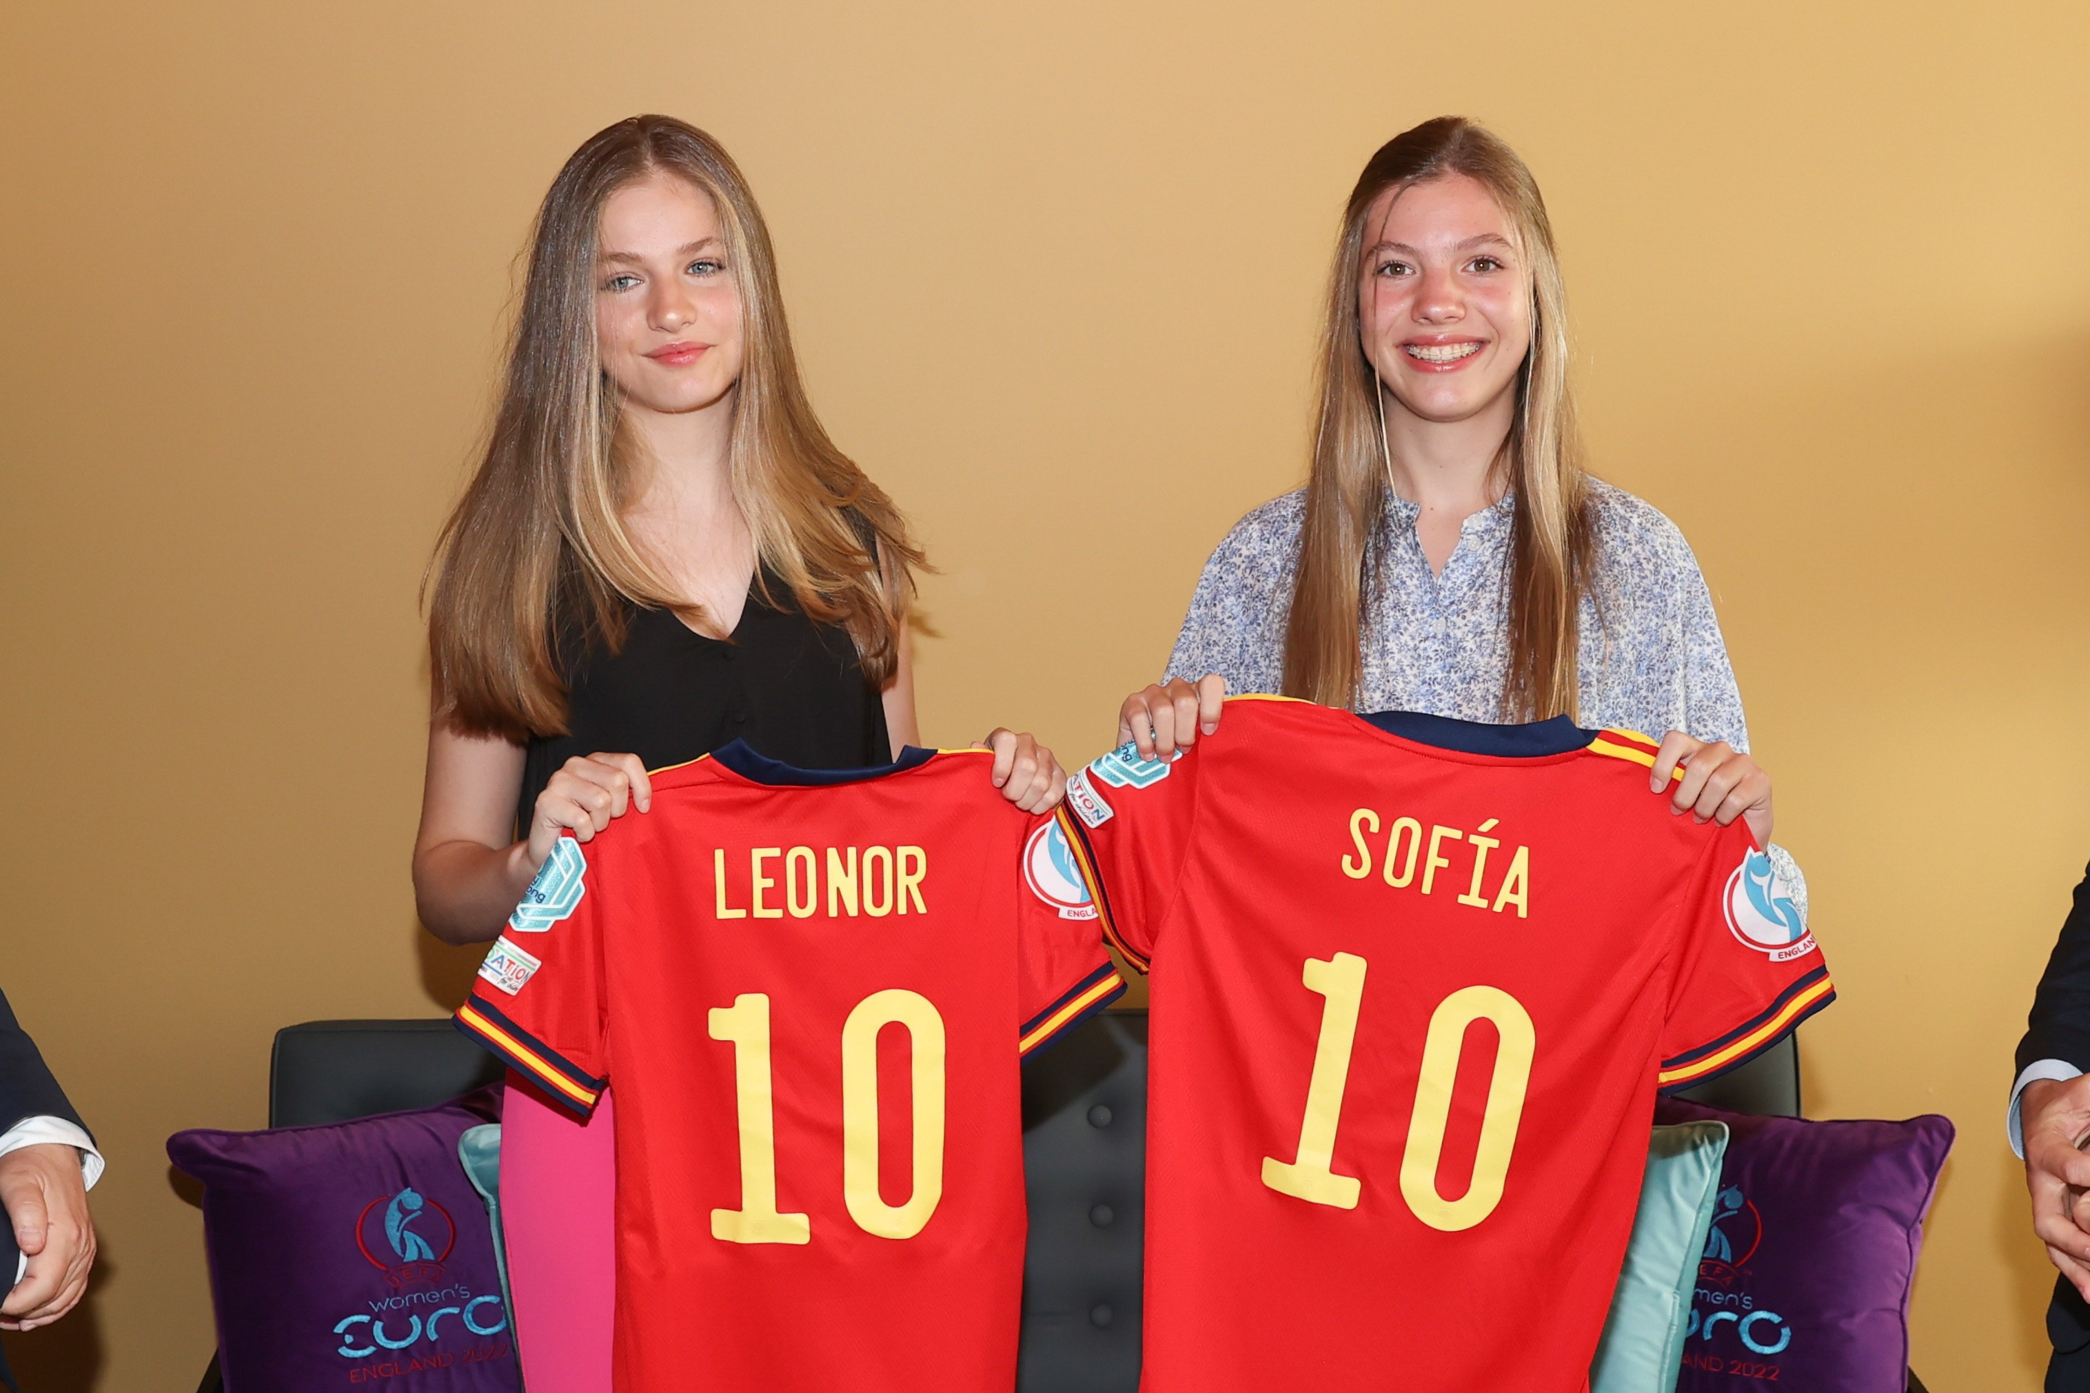
[[[729,470],[754,537],[759,591],[769,599],[775,574],[809,618],[846,629],[874,685],[886,685],[899,662],[922,549],[813,414],[754,194],[704,132],[673,117],[631,117],[575,150],[543,196],[485,455],[431,562],[433,681],[441,718],[462,733],[564,733],[562,664],[575,654],[562,647],[614,652],[625,601],[702,622],[621,518],[637,470],[596,345],[602,205],[656,171],[711,196],[740,292],[744,361]]]

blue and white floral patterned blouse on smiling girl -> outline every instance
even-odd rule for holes
[[[1304,489],[1273,499],[1218,543],[1198,576],[1168,677],[1218,672],[1227,691],[1283,687],[1304,501]],[[1674,729],[1747,752],[1735,668],[1685,535],[1624,489],[1593,482],[1593,501],[1597,576],[1582,599],[1580,725],[1655,739]],[[1419,512],[1388,497],[1371,539],[1358,710],[1501,721],[1511,499],[1465,520],[1444,574],[1432,574],[1423,558]],[[1785,848],[1772,846],[1770,856],[1804,915],[1799,867]]]

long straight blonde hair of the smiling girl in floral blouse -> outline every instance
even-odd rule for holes
[[[1331,706],[1358,698],[1365,566],[1388,493],[1379,376],[1365,355],[1356,303],[1365,219],[1386,190],[1453,173],[1494,194],[1532,276],[1532,347],[1517,374],[1515,424],[1494,462],[1515,493],[1501,710],[1522,721],[1572,716],[1595,537],[1568,388],[1568,292],[1538,182],[1515,150],[1465,117],[1423,121],[1379,146],[1344,209],[1321,322],[1321,414],[1285,629],[1283,689]]]

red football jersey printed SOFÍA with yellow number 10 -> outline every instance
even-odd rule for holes
[[[1576,1393],[1657,1088],[1831,998],[1655,746],[1244,698],[1060,810],[1152,971],[1145,1393]]]

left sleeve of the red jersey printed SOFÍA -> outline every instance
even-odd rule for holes
[[[1068,779],[1060,804],[1104,934],[1139,971],[1154,957],[1189,860],[1202,748],[1164,762],[1118,746]]]

